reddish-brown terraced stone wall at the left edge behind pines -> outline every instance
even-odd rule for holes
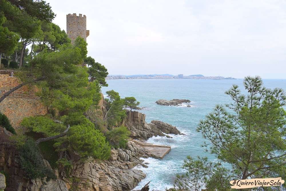
[[[10,77],[8,74],[0,74],[0,90],[10,90],[20,83],[21,81],[17,77]],[[35,94],[35,91],[38,91],[38,89],[36,86],[29,87],[28,85],[25,85],[17,89],[17,91]],[[43,106],[39,98],[7,97],[0,103],[0,112],[8,117],[11,125],[17,131],[19,123],[24,117],[45,115],[47,114],[47,108]]]

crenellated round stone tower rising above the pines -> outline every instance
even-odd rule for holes
[[[67,35],[71,39],[72,44],[78,36],[84,38],[89,35],[89,30],[86,30],[86,15],[76,16],[76,13],[67,15]]]

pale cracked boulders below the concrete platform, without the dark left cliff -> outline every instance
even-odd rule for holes
[[[134,142],[128,142],[126,149],[111,150],[111,157],[106,161],[88,161],[74,165],[72,177],[80,180],[80,190],[112,191],[132,190],[146,177],[141,170],[132,169],[142,164],[139,158],[148,154],[144,148]],[[69,178],[62,179],[71,185]]]

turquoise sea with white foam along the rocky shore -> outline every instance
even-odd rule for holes
[[[264,86],[268,88],[281,87],[286,90],[285,79],[265,79]],[[122,98],[134,96],[140,107],[145,107],[140,112],[146,114],[146,121],[161,120],[178,128],[185,136],[171,135],[173,138],[152,137],[148,142],[171,146],[172,149],[164,159],[144,159],[148,168],[136,167],[147,174],[135,189],[141,189],[150,182],[150,190],[164,190],[170,188],[177,173],[182,173],[181,168],[186,156],[208,156],[210,160],[215,157],[205,153],[201,148],[204,139],[196,132],[200,119],[212,111],[216,104],[230,103],[230,98],[225,95],[232,84],[241,87],[245,92],[243,80],[196,80],[196,79],[119,79],[108,80],[108,87],[102,88],[102,93],[113,89],[119,92]],[[188,99],[193,107],[186,106],[161,106],[155,102],[159,99]]]

